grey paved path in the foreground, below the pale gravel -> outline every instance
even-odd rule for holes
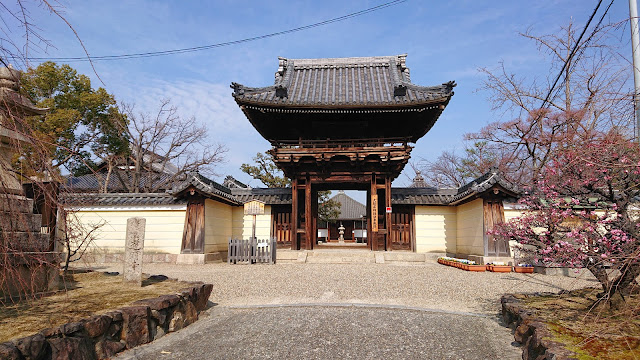
[[[520,359],[486,316],[368,306],[215,307],[117,359]]]

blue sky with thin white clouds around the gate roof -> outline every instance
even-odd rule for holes
[[[91,55],[158,51],[233,41],[304,26],[384,3],[381,1],[61,1],[66,19]],[[438,85],[455,80],[451,103],[433,129],[415,144],[413,161],[433,159],[443,150],[460,149],[467,132],[494,120],[487,94],[480,89],[480,67],[504,61],[509,71],[544,79],[544,58],[518,35],[558,31],[573,20],[582,28],[597,1],[417,1],[409,0],[343,22],[212,50],[154,58],[95,62],[101,85],[87,63],[70,63],[104,86],[120,101],[152,112],[172,99],[184,116],[195,116],[211,141],[229,149],[217,167],[221,180],[230,174],[256,187],[239,170],[269,144],[239,110],[229,85],[273,83],[277,57],[316,58],[408,53],[413,83]],[[608,2],[606,2],[608,4]],[[603,4],[603,8],[604,8]],[[602,11],[603,9],[601,9]],[[55,48],[31,56],[82,56],[64,23],[35,9],[33,22]],[[628,3],[618,0],[609,20],[628,17]],[[628,42],[629,29],[619,29]],[[625,54],[626,56],[626,54]],[[628,58],[631,58],[630,50]],[[32,63],[37,65],[37,62]],[[410,171],[394,186],[409,183]]]

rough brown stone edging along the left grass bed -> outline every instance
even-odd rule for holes
[[[198,320],[212,284],[138,300],[131,306],[0,344],[1,359],[107,359]]]

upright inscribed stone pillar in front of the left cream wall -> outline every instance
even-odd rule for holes
[[[127,219],[127,240],[124,249],[124,281],[142,286],[142,255],[145,218]]]

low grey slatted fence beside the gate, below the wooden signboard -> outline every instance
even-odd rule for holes
[[[275,264],[276,238],[271,239],[233,239],[229,238],[229,264]]]

